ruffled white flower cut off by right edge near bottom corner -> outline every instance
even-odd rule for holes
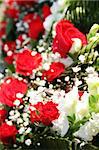
[[[93,136],[99,133],[99,113],[93,114],[92,119],[87,121],[80,129],[74,133],[74,136],[80,137],[85,141],[92,141]]]

